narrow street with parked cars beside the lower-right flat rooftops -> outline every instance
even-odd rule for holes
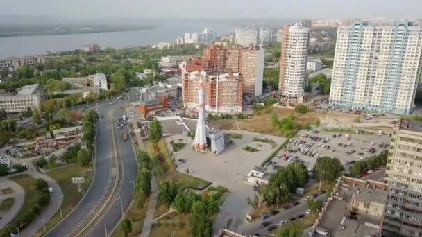
[[[326,200],[327,199],[327,194],[323,194],[323,195],[319,195],[318,198],[316,198],[318,200]],[[307,203],[305,200],[300,200],[301,204],[298,204],[296,207],[292,207],[290,209],[287,209],[285,211],[280,211],[280,213],[278,213],[277,215],[274,216],[270,216],[269,218],[267,218],[268,222],[271,222],[270,225],[277,225],[281,220],[289,220],[289,218],[292,218],[293,216],[296,216],[298,214],[305,214],[305,212],[307,211]],[[242,233],[242,234],[267,234],[268,230],[267,227],[262,228],[261,227],[261,223],[263,222],[263,220],[258,219],[255,220],[251,223],[248,223],[247,225],[244,225],[243,227],[240,227],[239,230],[237,230],[237,232]]]

